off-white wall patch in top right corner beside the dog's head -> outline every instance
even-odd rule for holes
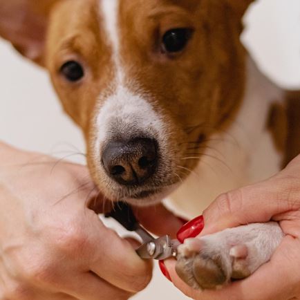
[[[300,87],[300,1],[256,1],[245,16],[243,41],[270,78]]]

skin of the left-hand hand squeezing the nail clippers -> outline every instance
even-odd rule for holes
[[[123,300],[151,280],[137,242],[98,218],[110,205],[82,165],[0,142],[0,207],[0,299]],[[182,225],[161,205],[135,211],[156,234]]]

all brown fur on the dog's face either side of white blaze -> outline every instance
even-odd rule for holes
[[[210,135],[223,131],[234,120],[245,91],[247,53],[240,41],[241,17],[251,2],[120,2],[120,53],[126,78],[138,83],[138,89],[151,94],[149,102],[167,120],[176,165],[188,169],[196,167],[198,159],[182,161],[182,157],[200,157],[200,149]],[[39,45],[32,59],[48,68],[65,111],[82,127],[88,146],[88,165],[93,174],[97,169],[95,153],[91,151],[95,142],[96,105],[102,106],[104,93],[110,93],[107,87],[115,75],[111,46],[102,26],[100,1],[12,0],[10,3],[14,5],[6,4],[6,13],[1,10],[0,17],[6,15],[7,19],[17,3],[23,3],[22,8],[28,3],[26,14],[34,17],[25,28],[26,32],[33,32],[33,36],[28,37],[30,43],[19,41],[20,30],[6,30],[3,22],[0,22],[0,34],[22,48],[25,55],[30,53],[32,44]],[[13,12],[13,15],[18,13]],[[162,53],[162,35],[178,27],[194,30],[187,48],[178,55]],[[60,66],[69,59],[84,66],[86,76],[82,82],[67,82],[59,73]],[[282,142],[276,145],[283,147]],[[182,169],[176,172],[181,178],[187,176]],[[100,188],[107,189],[107,182],[104,185],[98,176],[94,178]],[[174,175],[169,184],[176,181],[178,177]]]

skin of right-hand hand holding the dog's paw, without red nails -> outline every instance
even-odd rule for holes
[[[219,196],[203,216],[200,236],[272,220],[279,222],[285,237],[268,263],[221,290],[192,290],[177,276],[175,261],[165,261],[177,288],[196,300],[300,299],[300,156],[268,180]]]

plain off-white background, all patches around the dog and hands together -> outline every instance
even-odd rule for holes
[[[245,16],[243,42],[263,71],[284,88],[300,88],[300,1],[260,0]],[[299,116],[300,118],[300,116]],[[64,115],[43,69],[0,39],[0,139],[22,149],[84,163],[77,127]],[[156,268],[135,300],[187,299]]]

